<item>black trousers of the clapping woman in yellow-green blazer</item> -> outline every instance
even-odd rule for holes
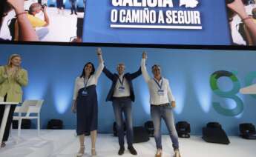
[[[6,101],[6,98],[7,98],[7,95],[4,96],[4,101]],[[11,105],[10,106],[10,111],[9,111],[9,114],[8,114],[7,123],[6,123],[5,130],[4,130],[3,141],[8,140],[8,137],[9,137],[9,134],[10,134],[10,126],[11,126],[12,121],[13,121],[13,113],[14,113],[15,107],[16,107],[16,105]],[[0,126],[1,126],[1,121],[2,121],[3,117],[4,117],[4,105],[0,105]]]

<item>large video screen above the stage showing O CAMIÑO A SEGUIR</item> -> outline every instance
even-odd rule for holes
[[[41,11],[31,13],[35,3]],[[39,41],[256,45],[255,0],[29,0],[24,9]],[[4,18],[1,39],[19,41],[14,16]]]

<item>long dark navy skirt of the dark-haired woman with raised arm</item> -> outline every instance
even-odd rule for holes
[[[83,96],[82,92],[86,90],[87,95]],[[96,85],[82,88],[78,92],[76,104],[77,135],[89,133],[97,130],[98,127],[98,100]]]

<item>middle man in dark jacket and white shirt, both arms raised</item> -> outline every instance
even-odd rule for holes
[[[122,113],[125,115],[126,124],[126,138],[128,143],[128,150],[131,154],[137,155],[137,151],[133,147],[133,125],[131,117],[131,101],[134,101],[134,87],[132,80],[141,75],[141,69],[135,73],[124,73],[125,64],[118,64],[116,67],[117,73],[111,73],[107,67],[104,67],[103,73],[111,79],[112,85],[108,92],[106,101],[112,101],[114,115],[116,118],[117,136],[119,141],[118,154],[122,155],[125,151],[124,147],[124,130],[123,130],[123,118]]]

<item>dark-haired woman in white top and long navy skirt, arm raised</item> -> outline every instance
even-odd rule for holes
[[[81,76],[76,78],[73,92],[72,111],[76,113],[76,133],[79,136],[80,149],[77,156],[85,153],[85,134],[91,133],[91,155],[96,156],[95,143],[98,127],[98,101],[96,84],[104,68],[102,50],[96,50],[99,67],[95,68],[91,62],[85,64]]]

